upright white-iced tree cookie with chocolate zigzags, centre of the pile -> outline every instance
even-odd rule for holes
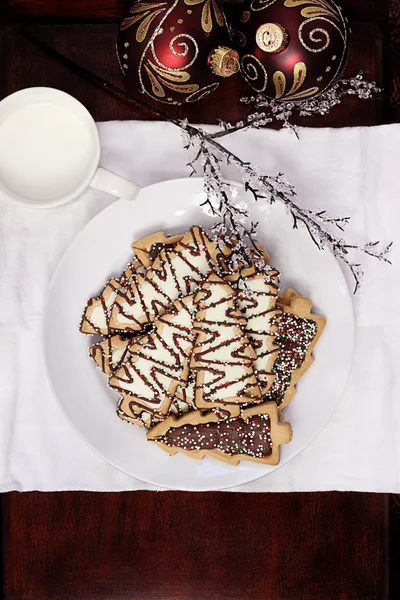
[[[254,374],[256,354],[244,333],[233,288],[215,274],[196,294],[197,333],[190,367],[196,372],[195,404],[239,414],[240,405],[261,402]]]

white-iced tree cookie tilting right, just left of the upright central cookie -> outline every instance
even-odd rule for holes
[[[110,378],[110,386],[143,410],[166,415],[178,385],[188,379],[192,311],[192,296],[176,300],[171,312],[155,321],[154,331],[129,347],[130,356]]]

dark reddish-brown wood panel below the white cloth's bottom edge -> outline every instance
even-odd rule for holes
[[[384,600],[377,494],[7,494],[6,600]]]

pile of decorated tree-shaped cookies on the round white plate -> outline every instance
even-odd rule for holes
[[[279,295],[261,246],[242,267],[196,226],[132,249],[80,324],[102,336],[89,354],[119,394],[117,415],[171,455],[278,464],[292,437],[282,410],[325,320],[294,290]]]

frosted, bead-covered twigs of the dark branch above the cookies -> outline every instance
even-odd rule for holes
[[[219,216],[220,222],[212,227],[212,232],[222,243],[236,243],[234,261],[237,264],[249,264],[250,248],[256,248],[256,228],[253,224],[246,225],[249,212],[239,212],[237,207],[229,200],[227,189],[229,184],[224,181],[220,167],[222,164],[233,165],[241,175],[245,190],[251,195],[254,202],[267,201],[270,204],[282,202],[293,219],[293,228],[304,227],[315,245],[323,250],[328,248],[333,255],[342,261],[349,269],[355,281],[356,292],[363,279],[361,264],[350,259],[350,254],[355,252],[365,254],[377,260],[389,263],[389,252],[392,244],[382,245],[380,242],[368,242],[357,246],[348,244],[345,240],[334,233],[334,230],[344,232],[350,222],[350,217],[334,217],[325,210],[312,211],[302,208],[297,202],[295,188],[285,179],[283,173],[276,176],[264,174],[260,169],[225,148],[220,140],[237,131],[248,128],[263,127],[274,119],[281,121],[284,127],[293,126],[289,122],[294,114],[300,116],[312,116],[314,114],[325,115],[334,106],[338,105],[346,96],[355,95],[360,99],[372,99],[380,90],[375,82],[368,82],[362,74],[350,79],[338,81],[330,90],[317,98],[297,103],[277,102],[259,94],[256,97],[244,99],[246,103],[252,103],[253,109],[268,108],[269,113],[255,112],[246,121],[240,121],[235,125],[220,123],[221,130],[209,134],[182,122],[184,129],[185,147],[196,148],[196,158],[190,163],[195,169],[196,164],[203,166],[204,189],[207,201],[204,203],[210,214]],[[297,131],[296,135],[297,135]],[[238,240],[238,242],[236,242]],[[249,248],[250,247],[250,248]]]

